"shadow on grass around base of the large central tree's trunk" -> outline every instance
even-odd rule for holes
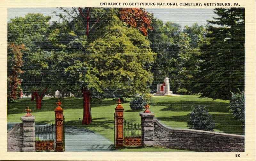
[[[95,127],[98,129],[114,129],[114,120],[102,120],[104,118],[96,118],[92,119],[92,122],[89,125],[83,125],[82,119],[76,120],[76,121],[65,121],[65,126],[76,126],[79,128],[89,128],[89,127]]]

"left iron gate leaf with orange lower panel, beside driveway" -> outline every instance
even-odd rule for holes
[[[36,151],[54,151],[55,124],[51,123],[35,129]]]

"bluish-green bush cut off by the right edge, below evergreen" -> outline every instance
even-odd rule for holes
[[[244,91],[232,93],[229,108],[234,118],[244,123]]]

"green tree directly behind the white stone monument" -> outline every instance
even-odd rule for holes
[[[188,41],[183,37],[186,35],[182,33],[179,24],[172,22],[163,24],[162,21],[154,17],[152,18],[152,27],[153,30],[148,32],[148,39],[151,41],[152,51],[157,55],[151,69],[154,74],[151,90],[155,92],[156,84],[162,83],[165,77],[169,77],[171,90],[176,91],[184,81],[181,77],[184,60],[180,54],[184,50],[183,46],[188,46]]]

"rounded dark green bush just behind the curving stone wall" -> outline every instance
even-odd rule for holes
[[[213,131],[215,123],[212,121],[212,115],[205,107],[197,106],[189,114],[188,128],[196,130]]]

